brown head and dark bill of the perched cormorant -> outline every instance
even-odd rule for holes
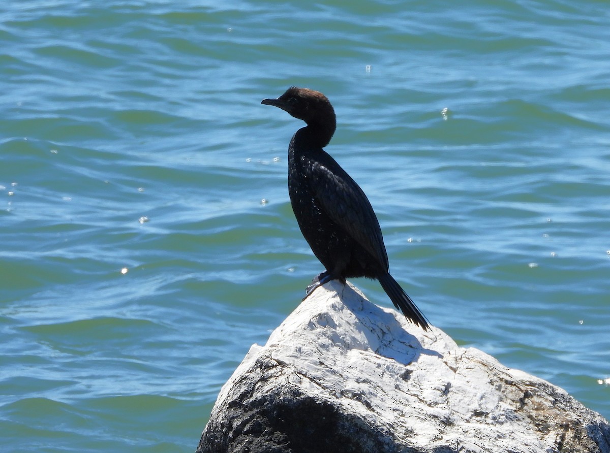
[[[320,91],[290,87],[279,98],[263,99],[261,104],[274,105],[298,119],[320,135],[322,146],[331,141],[337,127],[335,110]],[[312,131],[313,132],[313,131]]]

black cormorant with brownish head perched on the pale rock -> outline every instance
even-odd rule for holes
[[[367,196],[350,175],[322,149],[337,126],[331,103],[319,91],[290,87],[277,99],[263,99],[307,126],[296,131],[288,148],[288,191],[296,221],[314,255],[325,266],[307,287],[348,277],[377,279],[397,309],[423,329],[426,318],[390,276],[379,221]]]

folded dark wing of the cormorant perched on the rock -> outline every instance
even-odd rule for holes
[[[312,162],[310,170],[312,189],[326,215],[387,269],[379,221],[364,191],[332,157],[328,166]]]

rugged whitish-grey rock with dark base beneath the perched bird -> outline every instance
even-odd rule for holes
[[[610,426],[561,388],[334,281],[252,346],[218,395],[204,452],[610,453]]]

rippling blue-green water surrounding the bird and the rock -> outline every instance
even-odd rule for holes
[[[286,189],[301,124],[260,105],[289,85],[334,103],[326,149],[431,323],[610,418],[609,21],[593,0],[2,2],[2,451],[194,451],[321,271]]]

